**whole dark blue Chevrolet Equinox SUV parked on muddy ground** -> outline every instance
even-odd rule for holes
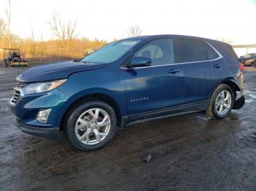
[[[193,36],[138,36],[80,61],[37,66],[17,77],[10,101],[23,132],[78,149],[104,147],[117,127],[205,111],[222,119],[244,105],[244,65],[224,42]],[[240,92],[240,93],[238,93]]]

